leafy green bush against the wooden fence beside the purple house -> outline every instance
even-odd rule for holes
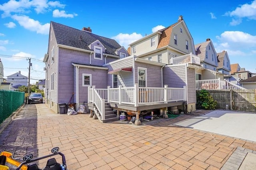
[[[196,92],[196,102],[204,109],[216,109],[217,101],[215,101],[207,90],[200,90]]]

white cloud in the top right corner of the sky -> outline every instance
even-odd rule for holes
[[[226,12],[225,16],[230,16],[238,18],[236,20],[232,19],[230,25],[236,26],[242,23],[242,18],[248,18],[250,20],[256,20],[256,0],[252,1],[251,4],[243,4],[237,7],[233,11]]]

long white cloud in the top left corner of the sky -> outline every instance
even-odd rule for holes
[[[49,10],[51,7],[64,8],[66,5],[60,4],[59,1],[48,0],[9,0],[8,2],[0,5],[0,10],[4,11],[2,17],[10,16],[11,13],[28,13],[30,8],[34,8],[37,14]]]

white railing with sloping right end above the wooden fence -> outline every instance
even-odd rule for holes
[[[196,90],[217,90],[217,89],[244,89],[243,87],[218,79],[196,80]]]

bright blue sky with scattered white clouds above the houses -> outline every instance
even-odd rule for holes
[[[1,0],[0,15],[4,76],[19,70],[28,76],[28,61],[22,57],[31,57],[31,83],[45,77],[42,59],[48,50],[50,21],[90,27],[94,34],[127,48],[182,15],[194,44],[210,38],[217,53],[228,51],[231,64],[256,72],[256,0]]]

